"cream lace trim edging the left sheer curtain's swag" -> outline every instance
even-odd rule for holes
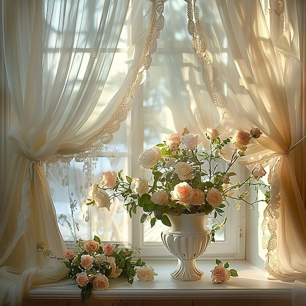
[[[89,138],[86,143],[79,146],[76,150],[65,149],[59,150],[57,154],[50,156],[47,163],[55,163],[57,161],[70,161],[75,158],[76,161],[84,161],[89,155],[100,153],[103,145],[109,143],[113,139],[113,133],[120,129],[120,125],[126,120],[128,111],[131,111],[132,100],[139,90],[141,84],[146,80],[146,70],[152,63],[152,54],[157,48],[157,39],[160,31],[164,27],[164,3],[168,0],[152,0],[152,13],[150,16],[149,29],[147,38],[140,58],[139,65],[135,70],[134,77],[129,85],[122,102],[117,110],[113,113],[110,120],[98,131],[94,136]]]

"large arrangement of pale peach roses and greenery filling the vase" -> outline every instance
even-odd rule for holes
[[[262,132],[252,128],[250,132],[235,131],[232,137],[221,139],[219,131],[208,130],[206,136],[210,142],[209,152],[204,152],[198,144],[197,134],[192,134],[184,128],[182,134],[168,135],[163,143],[144,151],[139,157],[139,164],[144,169],[152,171],[149,181],[144,177],[131,178],[114,171],[104,172],[100,182],[91,186],[87,205],[96,205],[109,209],[114,197],[123,197],[130,217],[136,214],[136,208],[143,209],[140,219],[144,222],[150,218],[153,227],[159,219],[165,225],[171,226],[168,213],[180,214],[217,214],[224,213],[223,208],[229,198],[244,201],[250,205],[258,202],[248,202],[248,191],[235,196],[242,186],[255,188],[268,187],[259,183],[258,179],[265,174],[262,165],[256,165],[252,174],[242,182],[231,183],[231,177],[236,175],[231,171],[234,163],[245,155],[251,139],[257,139]],[[234,144],[226,169],[219,170],[219,159],[225,159],[224,149]],[[111,194],[109,195],[109,191]],[[269,192],[266,192],[266,201]],[[226,219],[225,219],[226,220]]]

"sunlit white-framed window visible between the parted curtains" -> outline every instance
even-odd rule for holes
[[[137,2],[137,1],[136,1]],[[170,3],[171,2],[171,3]],[[134,3],[131,1],[131,3]],[[206,88],[201,79],[201,71],[197,58],[191,49],[191,38],[186,31],[187,18],[182,20],[179,12],[186,16],[185,1],[168,1],[165,3],[165,28],[158,40],[158,48],[153,54],[153,62],[147,71],[147,80],[133,100],[133,108],[128,119],[122,124],[120,131],[114,134],[113,141],[105,146],[99,156],[93,156],[84,163],[74,161],[57,165],[48,169],[48,179],[56,207],[59,227],[64,239],[73,242],[76,239],[90,239],[98,235],[104,241],[138,246],[142,249],[142,257],[169,257],[169,252],[162,245],[160,232],[162,224],[153,228],[150,222],[140,224],[139,216],[130,219],[122,203],[116,199],[111,211],[88,207],[82,199],[87,196],[87,188],[98,182],[104,171],[123,169],[124,175],[145,176],[150,179],[148,171],[138,165],[139,155],[165,139],[170,133],[180,132],[194,121],[200,120],[199,112],[205,112],[205,101],[209,101]],[[124,54],[123,49],[128,40],[132,40],[133,22],[128,15],[122,34],[118,56]],[[167,26],[167,21],[175,22],[175,27]],[[209,22],[209,20],[207,21]],[[173,29],[174,32],[171,32]],[[223,40],[222,57],[227,59],[226,41]],[[113,61],[115,65],[115,60]],[[225,61],[226,62],[226,61]],[[115,70],[116,71],[116,70]],[[115,79],[113,82],[120,80]],[[221,82],[224,93],[226,83]],[[183,86],[182,86],[183,85]],[[195,89],[197,87],[197,90]],[[110,87],[109,87],[110,88]],[[203,100],[203,108],[198,109],[196,99]],[[235,169],[244,176],[244,167]],[[245,208],[237,210],[235,203],[228,208],[228,222],[216,233],[216,241],[212,243],[202,258],[225,254],[228,259],[244,259]],[[223,219],[209,219],[209,225],[221,223]]]

